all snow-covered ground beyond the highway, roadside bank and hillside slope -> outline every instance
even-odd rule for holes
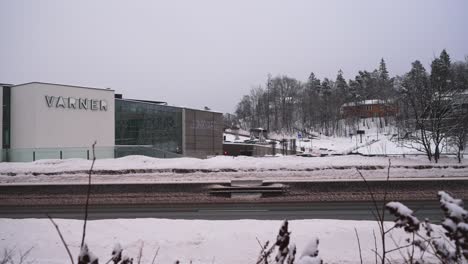
[[[467,158],[461,164],[455,158],[443,158],[430,163],[420,152],[401,146],[395,139],[396,128],[380,128],[378,119],[364,119],[359,124],[365,131],[360,137],[327,137],[314,133],[313,139],[297,141],[297,147],[312,154],[399,155],[391,157],[391,178],[467,177]],[[348,129],[349,130],[349,129]],[[246,133],[244,131],[244,133]],[[284,138],[286,135],[272,135]],[[296,136],[296,135],[293,135]],[[241,136],[240,141],[248,139]],[[226,134],[226,140],[235,136]],[[414,155],[420,154],[420,155]],[[98,157],[99,158],[99,157]],[[387,176],[388,157],[361,155],[325,157],[230,157],[209,159],[157,159],[128,156],[118,159],[98,159],[93,182],[225,182],[232,179],[271,181],[359,180],[356,169],[368,178]],[[83,159],[39,160],[28,163],[0,163],[0,184],[85,183],[91,161]]]

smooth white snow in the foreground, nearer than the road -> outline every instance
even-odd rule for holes
[[[82,221],[57,219],[60,230],[76,258],[81,241]],[[142,263],[151,263],[156,250],[156,263],[239,264],[255,263],[260,246],[257,238],[273,242],[280,221],[237,220],[166,220],[115,219],[88,222],[86,240],[90,250],[105,263],[115,243],[121,243],[123,255],[136,258],[143,245]],[[388,227],[393,223],[388,222]],[[16,253],[32,248],[28,260],[42,264],[62,264],[68,255],[54,227],[47,219],[0,219],[0,248],[14,248]],[[359,233],[364,263],[373,263],[375,255],[373,230],[378,234],[376,222],[340,220],[290,221],[291,243],[298,255],[310,239],[318,237],[319,256],[325,263],[360,263],[354,228]],[[401,229],[392,232],[396,243],[408,237]],[[388,249],[395,248],[391,239]],[[403,250],[403,253],[406,252]],[[401,260],[400,252],[391,259]],[[398,263],[398,261],[393,262]]]

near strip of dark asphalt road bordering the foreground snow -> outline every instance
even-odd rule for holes
[[[439,221],[442,211],[437,201],[404,202],[423,220]],[[341,219],[373,220],[371,202],[312,202],[312,203],[249,203],[249,204],[185,204],[185,205],[112,205],[93,206],[89,219],[116,218],[168,218],[206,220],[295,220]],[[0,207],[0,218],[53,218],[83,219],[83,206],[26,206]],[[388,215],[388,214],[387,214]],[[392,216],[387,216],[393,220]]]

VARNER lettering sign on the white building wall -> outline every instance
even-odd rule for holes
[[[70,108],[93,111],[107,111],[107,102],[105,100],[73,98],[62,96],[45,96],[47,106],[52,108]]]

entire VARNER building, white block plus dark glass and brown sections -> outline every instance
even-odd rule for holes
[[[0,161],[222,154],[222,114],[124,99],[111,89],[0,84]]]

